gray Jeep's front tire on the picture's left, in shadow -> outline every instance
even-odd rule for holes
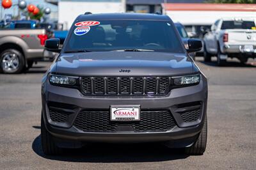
[[[59,155],[63,152],[63,148],[56,146],[52,135],[46,130],[43,115],[41,116],[41,143],[45,155]]]

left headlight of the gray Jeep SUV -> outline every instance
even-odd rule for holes
[[[76,86],[78,83],[78,77],[66,76],[66,75],[49,75],[49,82],[54,85],[60,86]]]

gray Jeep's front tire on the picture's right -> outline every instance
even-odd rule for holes
[[[185,148],[185,153],[188,155],[203,155],[207,143],[207,116],[205,116],[204,127],[202,128],[198,139],[189,148]]]

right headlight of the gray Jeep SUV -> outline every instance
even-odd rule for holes
[[[172,79],[173,79],[173,83],[177,86],[198,84],[200,82],[200,74],[172,77]]]

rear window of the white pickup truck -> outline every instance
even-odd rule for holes
[[[226,20],[223,21],[221,29],[253,29],[255,22],[245,20]]]

